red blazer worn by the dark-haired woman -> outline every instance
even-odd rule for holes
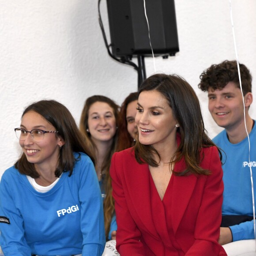
[[[179,255],[226,255],[217,242],[222,218],[221,162],[216,147],[203,148],[202,152],[204,157],[200,166],[210,170],[211,175],[178,177],[173,174],[171,177],[170,216],[174,240],[180,247]],[[174,166],[176,172],[184,169],[184,161]],[[113,154],[110,175],[117,215],[117,251],[120,255],[173,255],[166,220],[152,218],[148,164],[136,162],[134,151],[130,148]],[[160,226],[158,232],[156,225]]]

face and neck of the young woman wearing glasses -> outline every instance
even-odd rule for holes
[[[34,168],[39,174],[37,183],[39,185],[50,185],[56,180],[55,170],[59,159],[60,147],[65,144],[64,140],[52,132],[58,132],[55,131],[56,129],[52,124],[34,111],[28,111],[23,115],[20,127],[23,129],[21,134],[23,139],[22,136],[19,138],[19,144],[26,155],[27,161],[34,164]],[[52,133],[44,134],[40,132],[40,129]],[[31,133],[33,130],[37,131],[37,133]],[[37,139],[39,134],[41,134],[41,141]],[[45,169],[47,173],[45,173]]]

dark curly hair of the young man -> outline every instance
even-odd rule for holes
[[[243,94],[252,92],[252,75],[244,64],[239,64]],[[227,83],[233,82],[240,88],[237,61],[225,60],[220,64],[213,64],[200,75],[198,87],[202,91],[222,90]]]

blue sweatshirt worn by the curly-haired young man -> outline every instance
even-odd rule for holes
[[[240,143],[232,144],[227,138],[226,130],[220,132],[213,141],[225,153],[222,153],[223,169],[223,204],[222,215],[249,215],[253,216],[252,185],[250,168],[254,184],[254,198],[256,200],[256,124],[249,134],[250,162],[248,138]],[[230,226],[233,241],[254,239],[253,220]]]

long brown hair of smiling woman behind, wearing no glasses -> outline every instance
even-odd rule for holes
[[[87,145],[89,145],[90,149],[94,152],[94,156],[95,156],[95,152],[98,149],[97,149],[96,145],[94,144],[94,142],[92,141],[90,133],[88,133],[86,130],[88,128],[89,109],[90,109],[90,106],[92,104],[94,104],[95,102],[105,102],[113,109],[114,116],[116,118],[116,124],[117,124],[117,127],[119,127],[119,106],[115,102],[113,102],[113,100],[111,100],[108,97],[102,96],[102,95],[94,95],[94,96],[87,98],[87,100],[84,104],[84,107],[83,107],[79,128],[83,134],[83,137],[84,137]],[[104,222],[105,222],[106,238],[108,237],[111,219],[112,219],[112,217],[114,215],[114,211],[115,211],[114,199],[112,196],[112,183],[111,183],[111,177],[109,174],[109,167],[110,167],[112,155],[116,151],[116,148],[117,148],[118,130],[119,129],[117,129],[116,134],[113,137],[113,143],[105,156],[105,159],[104,159],[103,165],[102,165],[102,169],[101,169],[101,171],[105,172],[105,175],[104,175],[105,177],[103,179],[103,186],[105,188],[106,197],[103,202],[103,209],[104,209]],[[97,164],[97,159],[96,159],[96,164]]]

